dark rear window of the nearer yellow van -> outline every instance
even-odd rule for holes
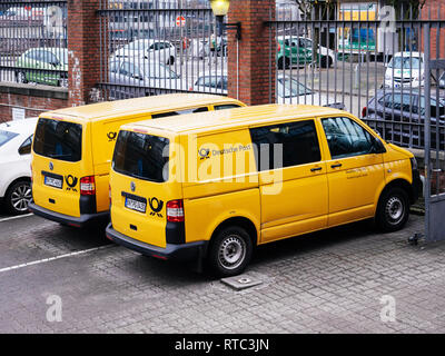
[[[116,142],[112,168],[139,179],[167,181],[169,144],[164,137],[122,130]]]

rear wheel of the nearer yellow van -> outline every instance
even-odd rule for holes
[[[220,230],[210,244],[208,263],[219,277],[239,275],[250,261],[253,244],[249,234],[238,226]]]

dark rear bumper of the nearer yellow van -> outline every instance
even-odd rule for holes
[[[167,244],[166,248],[149,245],[131,237],[122,235],[112,228],[111,224],[108,224],[106,230],[107,237],[118,245],[138,251],[142,255],[161,258],[161,259],[175,259],[175,260],[192,260],[197,259],[205,254],[208,241],[196,241],[189,244]]]

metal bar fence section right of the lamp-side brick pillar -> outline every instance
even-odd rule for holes
[[[425,148],[426,102],[431,147],[445,148],[445,75],[426,63],[445,52],[442,8],[380,7],[376,2],[309,7],[298,20],[270,21],[278,102],[343,107],[399,146]],[[275,44],[276,43],[276,44]],[[276,46],[276,47],[275,47]],[[425,57],[425,48],[431,57]]]

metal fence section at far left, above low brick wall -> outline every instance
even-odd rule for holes
[[[66,0],[0,2],[0,81],[68,88]]]

